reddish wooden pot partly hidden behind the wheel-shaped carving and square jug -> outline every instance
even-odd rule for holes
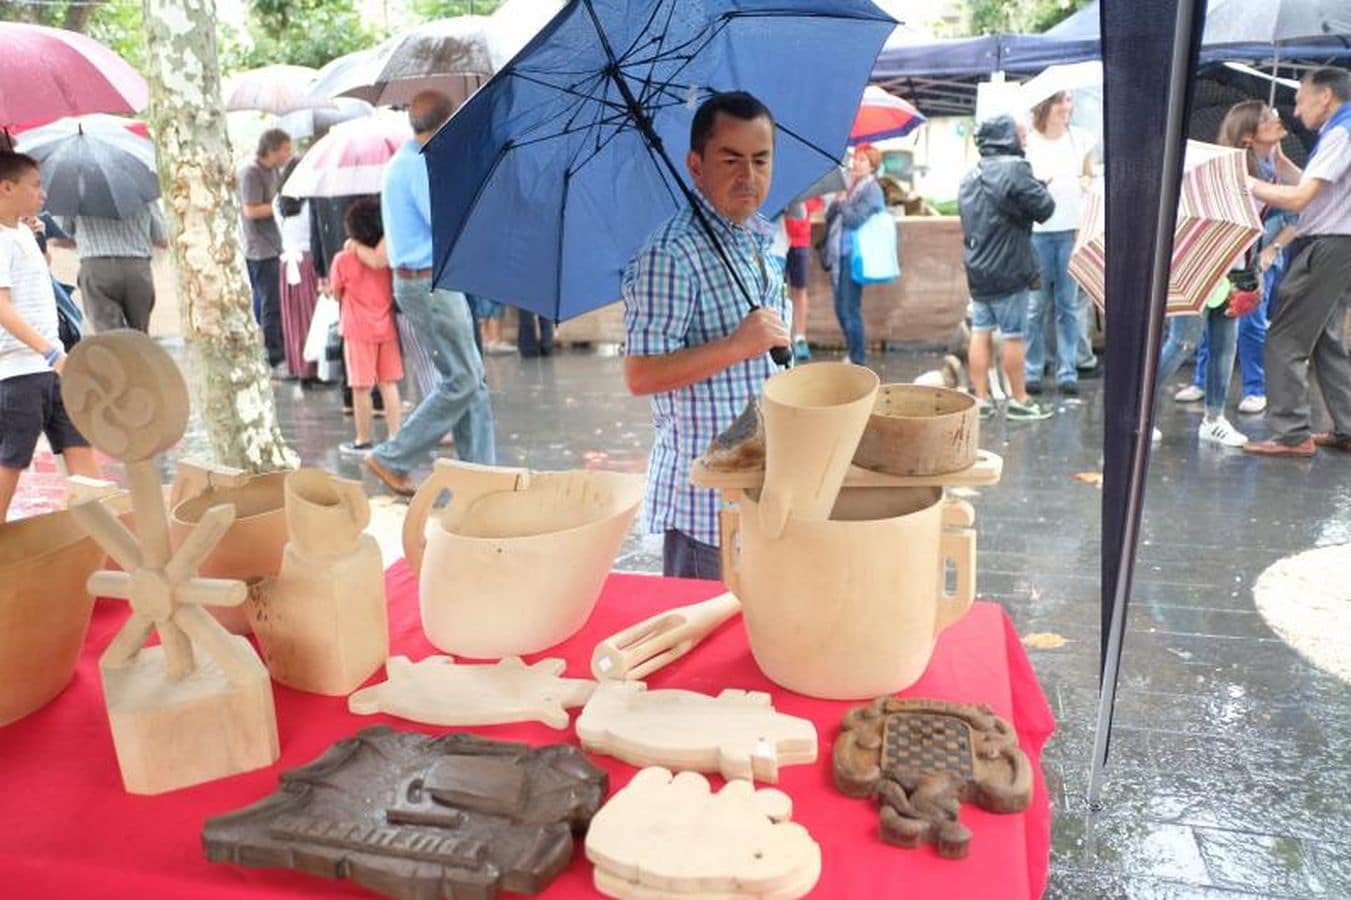
[[[212,484],[180,501],[169,519],[169,539],[174,550],[207,509],[228,503],[235,507],[235,520],[197,569],[197,574],[203,578],[236,578],[245,582],[276,576],[281,572],[281,553],[286,547],[288,474],[289,472],[269,472],[245,476],[232,486]],[[250,632],[245,604],[207,609],[234,634]]]

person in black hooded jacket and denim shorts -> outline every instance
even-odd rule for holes
[[[1032,223],[1055,212],[1046,185],[1032,177],[1023,158],[1024,131],[1012,116],[981,123],[975,146],[981,161],[962,180],[958,207],[962,215],[962,261],[971,291],[971,391],[981,404],[981,418],[994,415],[990,400],[990,358],[997,327],[1004,335],[1004,374],[1009,419],[1046,419],[1051,411],[1027,395],[1023,373],[1029,288],[1036,280]]]

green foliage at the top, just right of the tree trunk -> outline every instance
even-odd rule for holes
[[[251,0],[247,39],[228,26],[218,27],[226,72],[272,64],[317,69],[384,36],[362,24],[354,0]]]

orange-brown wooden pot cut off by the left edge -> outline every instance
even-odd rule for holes
[[[104,551],[68,511],[0,524],[0,726],[70,682]]]

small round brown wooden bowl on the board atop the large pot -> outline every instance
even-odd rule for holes
[[[975,397],[947,388],[884,384],[854,465],[897,476],[961,472],[975,465],[979,439]]]

